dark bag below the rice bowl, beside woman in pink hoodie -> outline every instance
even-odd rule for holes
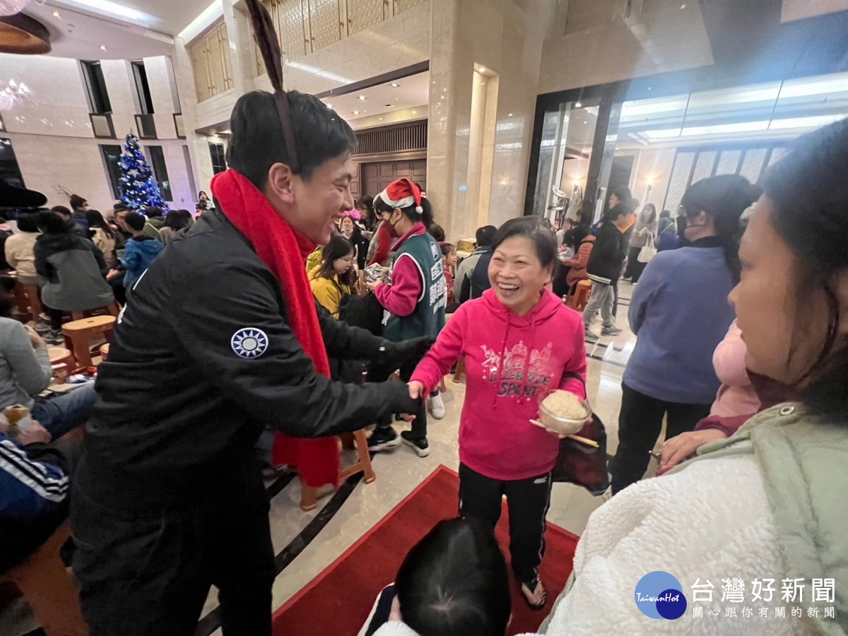
[[[560,454],[551,474],[555,482],[576,483],[591,494],[598,496],[610,487],[610,475],[606,468],[606,429],[600,417],[592,419],[577,435],[598,443],[598,448],[578,442],[576,439],[560,440]]]

